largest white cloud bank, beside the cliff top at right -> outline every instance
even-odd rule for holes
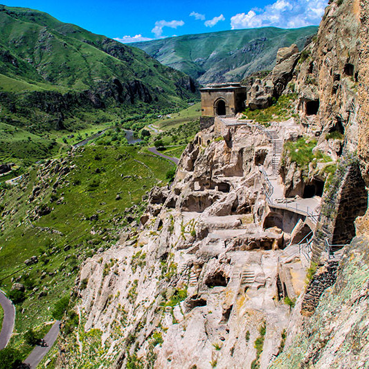
[[[262,9],[234,15],[231,17],[231,28],[298,28],[317,25],[324,14],[325,6],[327,0],[277,0]]]

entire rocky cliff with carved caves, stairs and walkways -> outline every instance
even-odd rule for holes
[[[368,366],[367,49],[368,3],[334,1],[267,77],[296,120],[197,134],[140,228],[82,264],[57,366]]]

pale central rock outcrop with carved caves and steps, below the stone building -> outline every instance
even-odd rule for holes
[[[199,144],[201,135],[208,145]],[[217,137],[212,127],[188,145],[172,187],[150,192],[137,235],[82,265],[80,334],[72,336],[100,332],[104,353],[75,354],[66,336],[60,365],[88,357],[114,368],[135,360],[150,368],[250,368],[253,361],[267,368],[278,354],[291,311],[278,280],[298,296],[307,263],[296,246],[285,248],[282,230],[261,225],[266,204],[255,161],[263,152],[271,166],[267,135],[244,125]]]

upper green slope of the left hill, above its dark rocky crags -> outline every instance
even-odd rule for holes
[[[15,68],[2,60],[1,66],[6,64],[4,69],[10,77],[46,82],[45,88],[57,84],[82,91],[109,78],[119,78],[121,82],[144,78],[148,84],[178,98],[174,80],[181,74],[161,66],[136,48],[64,24],[44,12],[0,8],[0,45],[19,62]]]

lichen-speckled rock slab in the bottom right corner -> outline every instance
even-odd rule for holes
[[[368,340],[368,238],[355,239],[311,318],[289,323],[285,352],[270,368],[365,368]]]

